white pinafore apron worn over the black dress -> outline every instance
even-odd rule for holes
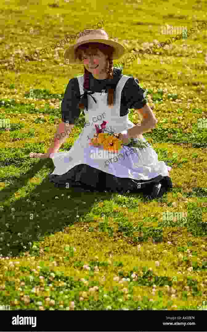
[[[86,164],[120,178],[150,180],[159,175],[169,176],[168,170],[171,170],[171,167],[164,161],[158,161],[157,153],[142,135],[139,137],[147,142],[149,147],[142,150],[133,148],[135,153],[130,148],[124,147],[118,153],[111,154],[103,148],[89,145],[88,138],[93,138],[96,133],[95,124],[101,128],[103,121],[107,121],[105,129],[116,133],[134,126],[128,120],[128,114],[120,117],[121,92],[130,77],[123,75],[117,83],[116,100],[112,108],[107,106],[107,93],[95,92],[93,97],[97,103],[91,96],[87,96],[88,112],[84,109],[86,124],[70,151],[53,154],[55,169],[51,175],[63,175],[79,164]],[[78,76],[77,79],[82,95],[84,75]],[[112,159],[109,160],[110,158]]]

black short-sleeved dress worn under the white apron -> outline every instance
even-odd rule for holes
[[[121,71],[121,69],[113,68],[114,78],[110,82],[107,79],[95,79],[90,74],[89,90],[107,92],[109,87],[113,87],[115,100],[115,87],[123,76]],[[136,78],[129,78],[122,89],[120,117],[127,115],[129,109],[141,109],[147,103],[146,90],[142,89],[138,83],[139,81]],[[87,98],[87,91],[83,96],[80,95],[78,79],[76,77],[71,79],[61,104],[62,121],[75,124],[81,113],[78,103],[81,100],[87,109]],[[162,197],[165,192],[172,189],[172,181],[169,176],[160,175],[147,181],[138,181],[116,177],[86,164],[79,164],[62,175],[49,175],[49,181],[54,183],[56,187],[66,188],[66,183],[68,183],[69,187],[79,188],[86,192],[142,193],[144,197],[150,200]]]

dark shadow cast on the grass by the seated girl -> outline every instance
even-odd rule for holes
[[[18,190],[27,186],[45,161],[48,168],[50,164],[52,168],[52,160],[40,159],[14,185],[1,190],[1,202],[11,199]],[[140,197],[140,193],[136,194]],[[97,203],[104,199],[110,201],[112,195],[113,193],[108,192],[82,192],[79,188],[56,188],[46,176],[33,192],[28,190],[27,197],[20,197],[14,204],[7,203],[4,209],[0,208],[0,253],[3,257],[23,255],[25,251],[31,250],[34,241],[73,225],[76,220],[84,222],[83,219],[94,205],[95,199]],[[143,197],[144,201],[148,202],[148,199]]]

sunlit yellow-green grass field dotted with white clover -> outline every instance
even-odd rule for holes
[[[166,41],[165,24],[190,29],[206,22],[206,7],[199,0],[0,4],[0,305],[207,308],[207,30],[123,68],[148,89],[158,123],[143,135],[172,167],[173,189],[162,199],[58,189],[47,180],[52,160],[29,157],[47,151],[66,85],[83,74],[83,66],[64,61],[69,44],[37,59],[35,50],[104,20],[128,57]],[[138,123],[133,110],[129,120]],[[83,123],[81,114],[60,151],[70,150]]]

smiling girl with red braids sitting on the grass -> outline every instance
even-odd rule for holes
[[[84,75],[72,78],[67,85],[61,104],[62,123],[56,133],[59,138],[55,137],[47,153],[31,153],[30,156],[52,158],[55,169],[49,175],[49,181],[56,186],[102,192],[142,192],[149,199],[162,197],[172,189],[168,173],[171,167],[158,161],[158,155],[149,143],[142,150],[133,148],[135,153],[124,147],[119,155],[122,153],[125,157],[114,157],[115,160],[102,148],[89,145],[96,133],[95,124],[100,128],[104,121],[107,122],[105,131],[117,133],[124,145],[129,138],[139,138],[147,143],[142,133],[155,127],[157,120],[139,81],[113,67],[113,59],[125,53],[124,47],[109,40],[102,29],[88,32],[64,54],[69,63],[84,64]],[[132,108],[139,110],[143,119],[141,125],[128,120],[128,109]],[[79,118],[80,109],[84,109],[86,120],[81,134],[70,151],[58,152]],[[101,157],[99,152],[102,152]]]

